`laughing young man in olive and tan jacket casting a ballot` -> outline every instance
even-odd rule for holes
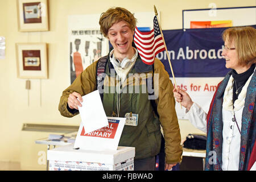
[[[126,123],[119,146],[135,147],[134,170],[154,170],[155,155],[160,151],[162,125],[166,141],[165,167],[171,169],[181,161],[182,148],[175,100],[171,91],[174,86],[169,75],[158,59],[155,59],[154,67],[144,64],[137,49],[132,46],[136,19],[130,11],[120,7],[109,9],[102,13],[99,23],[102,34],[113,46],[109,55],[101,58],[106,61],[102,93],[105,113],[109,117],[125,117],[130,113],[138,117],[137,121],[129,125]],[[81,106],[81,96],[97,89],[98,67],[96,61],[64,90],[59,104],[61,115],[73,117],[79,113],[77,106]],[[148,82],[152,80],[153,68],[154,77],[158,78],[154,79],[154,100],[159,117],[154,112],[147,89]],[[113,73],[117,80],[113,81]]]

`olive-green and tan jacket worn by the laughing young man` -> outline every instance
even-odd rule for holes
[[[78,92],[81,96],[96,90],[96,65],[97,61],[90,65],[76,78],[71,86],[64,90],[60,98],[59,110],[65,117],[73,117],[67,109],[68,96],[72,92]],[[104,97],[102,104],[105,113],[111,117],[117,113],[117,92],[113,92],[118,81],[115,75],[110,74],[114,69],[108,60],[106,65],[106,77],[104,79]],[[113,72],[112,72],[113,73]],[[132,73],[132,74],[131,74]],[[116,73],[115,73],[116,74]],[[180,146],[180,129],[175,111],[175,100],[172,93],[172,85],[168,73],[165,71],[160,60],[155,59],[154,77],[159,78],[154,82],[155,102],[159,118],[148,100],[148,80],[152,80],[152,65],[146,65],[138,57],[134,67],[127,75],[126,81],[121,86],[119,94],[120,109],[119,117],[125,117],[126,113],[138,114],[137,126],[126,126],[123,128],[119,146],[135,147],[135,159],[155,156],[160,151],[161,133],[160,125],[163,128],[164,139],[166,140],[166,163],[179,163],[181,161],[182,147]],[[157,84],[159,82],[159,84]]]

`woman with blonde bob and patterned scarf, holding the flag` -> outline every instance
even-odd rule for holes
[[[222,38],[225,66],[232,70],[218,84],[208,114],[184,90],[174,89],[174,97],[207,133],[205,170],[255,170],[256,30],[228,28]]]

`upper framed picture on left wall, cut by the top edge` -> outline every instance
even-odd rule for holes
[[[48,31],[47,0],[16,0],[19,31]]]

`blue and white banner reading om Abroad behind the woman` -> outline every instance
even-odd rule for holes
[[[252,27],[256,28],[256,25]],[[218,82],[229,71],[221,55],[224,47],[222,33],[226,28],[163,30],[177,86],[184,89],[206,112]],[[166,51],[156,57],[162,61],[174,84]],[[179,119],[186,119],[184,110],[176,103]]]

